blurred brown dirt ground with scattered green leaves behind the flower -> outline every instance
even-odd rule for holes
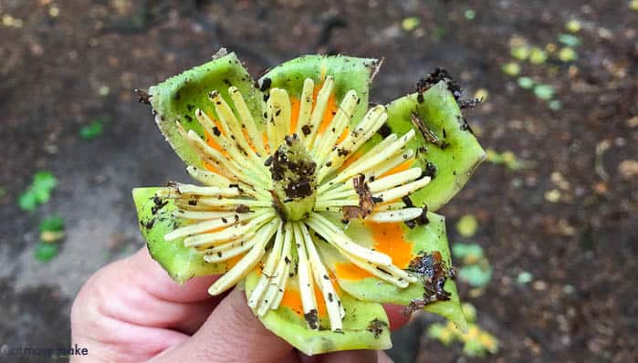
[[[417,316],[397,362],[638,357],[638,1],[312,3],[0,0],[0,347],[68,345],[78,288],[143,244],[131,189],[189,180],[132,89],[227,47],[254,76],[385,57],[377,103],[437,66],[484,99],[488,158],[440,211],[475,324]]]

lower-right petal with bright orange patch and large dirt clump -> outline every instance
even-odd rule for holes
[[[339,215],[334,215],[333,217],[339,218]],[[451,266],[450,249],[445,234],[445,217],[435,213],[427,213],[427,218],[429,223],[417,225],[413,229],[408,228],[403,223],[378,223],[377,225],[383,228],[394,229],[389,235],[384,235],[382,231],[375,231],[365,223],[352,220],[345,230],[345,233],[358,244],[375,248],[391,255],[394,264],[403,264],[399,265],[401,268],[407,267],[404,264],[410,257],[406,256],[404,252],[397,251],[399,244],[408,244],[408,248],[411,248],[412,256],[437,251],[441,254],[445,264]],[[398,230],[399,228],[400,230]],[[392,240],[392,234],[396,233],[403,233],[402,241]],[[387,244],[390,244],[388,247],[394,250],[385,251],[382,246],[378,244],[375,245],[375,235],[377,240],[385,241]],[[343,270],[340,270],[339,266],[350,264],[348,260],[329,244],[319,242],[317,246],[325,259],[326,265],[328,265],[335,274],[341,288],[358,299],[407,306],[413,299],[422,298],[424,296],[424,286],[419,283],[411,284],[406,288],[400,288],[383,282],[377,277],[363,277],[363,275],[359,277],[357,275],[345,274]],[[401,257],[401,254],[403,254],[403,257]],[[455,282],[451,279],[447,279],[444,288],[445,291],[451,294],[450,300],[429,304],[425,306],[424,309],[431,313],[444,316],[453,321],[457,327],[465,329],[465,316],[461,309]]]

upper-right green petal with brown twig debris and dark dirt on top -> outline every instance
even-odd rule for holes
[[[421,95],[413,93],[395,99],[387,106],[387,110],[386,124],[392,132],[402,135],[413,129],[410,116],[415,113],[427,129],[447,144],[441,147],[428,142],[418,130],[417,136],[408,144],[417,153],[417,164],[414,166],[425,169],[429,161],[435,167],[434,179],[420,191],[411,194],[410,198],[415,205],[426,204],[434,212],[463,188],[476,166],[485,159],[485,150],[466,127],[461,110],[444,81]],[[368,143],[379,140],[381,138],[377,136]],[[425,152],[421,147],[425,147]]]

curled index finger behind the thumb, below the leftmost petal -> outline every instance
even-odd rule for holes
[[[93,309],[116,321],[191,335],[221,300],[206,292],[215,278],[207,276],[179,285],[142,248],[91,276],[75,306],[76,310]],[[83,315],[81,311],[78,314]],[[78,324],[81,327],[83,321]]]

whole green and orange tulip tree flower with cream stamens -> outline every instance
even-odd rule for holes
[[[445,71],[369,108],[378,67],[306,56],[254,82],[222,53],[148,95],[204,185],[133,190],[152,257],[178,282],[223,274],[212,295],[243,285],[264,325],[309,355],[391,347],[382,303],[465,328],[433,212],[485,153]]]

